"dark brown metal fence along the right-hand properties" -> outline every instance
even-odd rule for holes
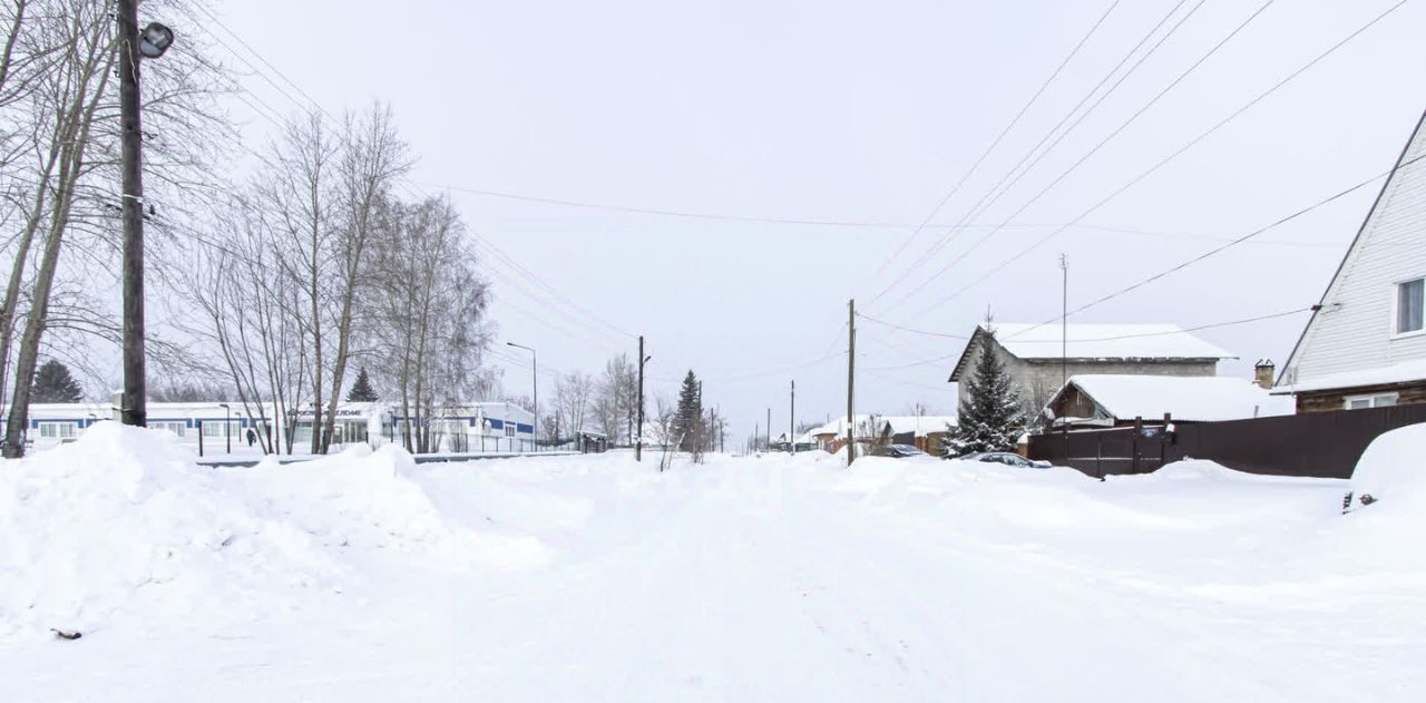
[[[1372,439],[1419,422],[1426,422],[1426,405],[1178,422],[1172,433],[1158,425],[1052,432],[1030,438],[1030,458],[1091,476],[1148,473],[1192,458],[1249,473],[1349,478]]]

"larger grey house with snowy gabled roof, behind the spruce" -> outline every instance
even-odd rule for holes
[[[1064,329],[1067,342],[1058,324],[997,322],[992,329],[994,335],[984,324],[975,328],[950,381],[960,382],[964,402],[970,384],[963,381],[974,378],[981,347],[992,345],[1031,416],[1045,406],[1067,376],[1212,376],[1221,359],[1233,358],[1178,325],[1166,324],[1072,322]]]

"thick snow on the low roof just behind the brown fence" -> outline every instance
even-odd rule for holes
[[[1174,419],[1215,422],[1292,415],[1295,405],[1291,398],[1231,376],[1085,374],[1071,376],[1070,385],[1118,419],[1162,418],[1168,412]]]

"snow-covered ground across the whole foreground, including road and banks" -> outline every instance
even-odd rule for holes
[[[1390,476],[1343,516],[1211,463],[191,462],[103,424],[0,463],[0,699],[1426,700]]]

